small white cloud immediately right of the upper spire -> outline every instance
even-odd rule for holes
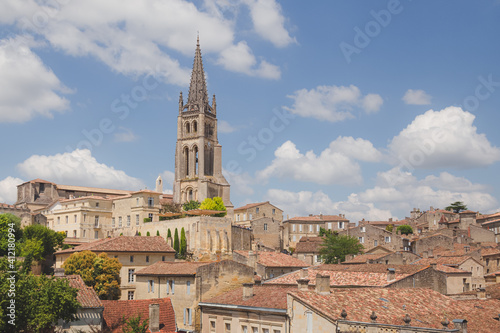
[[[243,73],[249,76],[258,76],[266,79],[279,79],[281,71],[279,67],[261,60],[257,65],[257,59],[245,41],[231,45],[220,53],[217,62],[225,69]]]

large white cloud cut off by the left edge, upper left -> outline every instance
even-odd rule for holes
[[[0,40],[0,122],[52,118],[69,109],[69,93],[52,70],[31,51],[30,38]]]

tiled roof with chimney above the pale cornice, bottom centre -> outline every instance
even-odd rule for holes
[[[254,285],[253,296],[243,299],[243,287],[211,298],[203,303],[239,305],[268,309],[287,308],[287,292],[297,290],[296,286]]]

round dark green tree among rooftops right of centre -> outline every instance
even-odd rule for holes
[[[319,253],[325,264],[339,264],[345,261],[348,254],[358,254],[363,252],[357,238],[347,235],[326,235]]]

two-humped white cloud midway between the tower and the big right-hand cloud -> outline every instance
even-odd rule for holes
[[[361,184],[361,168],[356,160],[376,162],[380,152],[371,142],[352,137],[338,137],[319,155],[302,154],[295,144],[286,141],[274,152],[275,159],[257,173],[258,178],[278,177],[318,184]]]

